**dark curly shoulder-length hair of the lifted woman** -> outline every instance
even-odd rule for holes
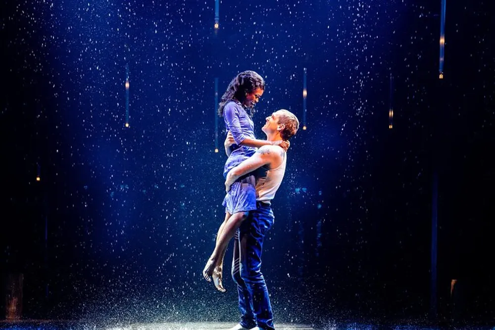
[[[256,89],[265,89],[265,81],[263,78],[254,71],[244,71],[238,74],[229,84],[227,90],[222,95],[220,103],[218,104],[218,115],[223,117],[223,109],[225,104],[233,99],[243,102],[246,97],[246,93],[252,93]],[[250,115],[254,113],[253,109],[250,111]]]

